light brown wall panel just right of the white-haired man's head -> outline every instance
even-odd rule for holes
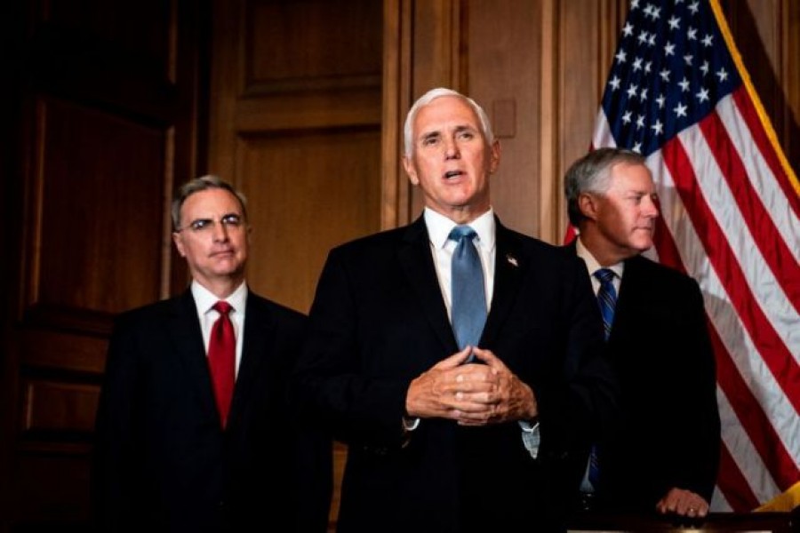
[[[541,5],[473,0],[467,10],[464,90],[484,107],[500,139],[492,205],[503,223],[535,235],[540,231],[541,84],[542,78],[550,79],[541,76]]]

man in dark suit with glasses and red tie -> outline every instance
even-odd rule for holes
[[[191,287],[115,324],[97,417],[99,529],[325,531],[332,440],[294,415],[286,386],[306,317],[248,290],[251,228],[228,183],[189,181],[172,222]],[[227,385],[211,355],[220,300],[232,306]]]

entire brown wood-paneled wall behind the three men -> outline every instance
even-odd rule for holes
[[[399,163],[403,121],[413,99],[446,85],[496,123],[500,217],[558,243],[562,175],[588,148],[628,9],[207,2],[0,8],[0,245],[11,258],[0,263],[0,533],[85,519],[86,427],[110,319],[186,282],[169,241],[175,184],[205,171],[236,181],[250,197],[253,288],[307,310],[332,245],[419,215]],[[800,3],[721,5],[797,171]],[[337,445],[337,479],[346,453]],[[338,485],[334,498],[335,521]]]

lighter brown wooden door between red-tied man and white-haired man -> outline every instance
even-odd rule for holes
[[[209,171],[248,198],[252,290],[303,313],[332,246],[380,229],[381,12],[214,2]],[[346,450],[334,453],[338,480]]]

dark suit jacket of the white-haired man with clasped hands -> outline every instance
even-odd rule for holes
[[[590,292],[580,261],[498,221],[480,346],[536,394],[540,456],[524,448],[516,422],[424,419],[405,440],[412,379],[458,351],[427,228],[420,218],[332,250],[298,383],[316,418],[348,444],[339,530],[556,530],[563,491],[586,465],[587,435],[614,401]]]

